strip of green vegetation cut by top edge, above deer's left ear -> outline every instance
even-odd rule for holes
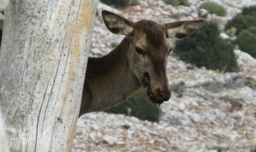
[[[102,3],[113,6],[140,5],[138,0],[100,0]]]

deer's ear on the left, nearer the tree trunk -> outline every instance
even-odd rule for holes
[[[114,34],[132,36],[134,23],[110,11],[103,10],[102,17],[108,30]]]

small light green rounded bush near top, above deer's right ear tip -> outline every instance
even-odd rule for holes
[[[210,14],[217,14],[218,16],[226,16],[227,14],[223,6],[211,1],[202,3],[200,9],[206,9]]]

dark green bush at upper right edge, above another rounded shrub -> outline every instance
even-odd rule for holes
[[[248,29],[251,26],[256,25],[256,6],[245,7],[242,13],[236,14],[233,19],[227,21],[225,29],[230,29],[235,27],[237,29],[237,34],[242,30]]]

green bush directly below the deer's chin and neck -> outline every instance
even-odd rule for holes
[[[120,103],[105,112],[114,114],[124,114],[134,116],[140,120],[158,122],[160,118],[160,108],[157,103],[149,100],[144,88],[139,89],[127,101]]]

